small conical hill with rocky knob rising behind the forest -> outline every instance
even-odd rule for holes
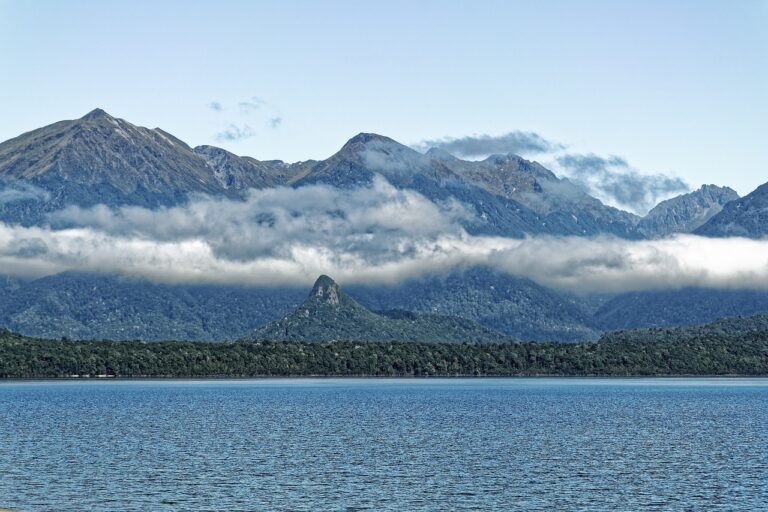
[[[458,317],[403,310],[370,311],[320,276],[307,300],[280,320],[248,336],[261,341],[511,342],[509,336]]]

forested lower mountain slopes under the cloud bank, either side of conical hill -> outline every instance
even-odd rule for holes
[[[487,268],[345,290],[371,310],[457,316],[534,341],[594,341],[605,330],[768,312],[766,292],[687,288],[583,298]],[[306,293],[77,273],[27,282],[0,278],[0,326],[42,338],[232,341],[285,315]]]

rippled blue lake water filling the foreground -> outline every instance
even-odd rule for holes
[[[766,379],[0,383],[0,508],[767,510]]]

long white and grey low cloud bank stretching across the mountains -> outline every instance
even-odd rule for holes
[[[578,292],[768,290],[768,241],[483,237],[461,227],[468,215],[461,204],[435,204],[380,179],[355,190],[200,197],[155,211],[68,208],[48,227],[0,224],[0,268],[26,276],[76,270],[173,283],[305,286],[323,273],[342,284],[382,284],[487,265]]]

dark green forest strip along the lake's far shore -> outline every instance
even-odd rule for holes
[[[41,340],[0,331],[0,377],[768,375],[768,335],[448,344]]]

